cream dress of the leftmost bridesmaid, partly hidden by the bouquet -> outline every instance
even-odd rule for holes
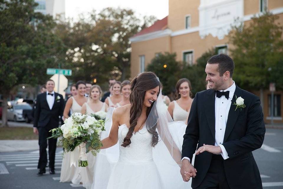
[[[73,99],[73,103],[70,109],[71,112],[80,112],[82,107],[78,104],[74,97],[71,98]],[[76,167],[70,167],[70,152],[66,153],[65,157],[62,159],[60,182],[70,182],[73,177],[75,177],[75,173],[77,172],[76,170],[78,170],[78,162],[76,162]]]

